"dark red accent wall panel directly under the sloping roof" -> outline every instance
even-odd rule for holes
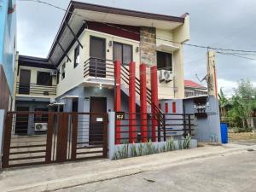
[[[95,30],[97,32],[106,32],[108,34],[119,36],[121,38],[130,38],[136,41],[140,41],[139,26],[123,26],[123,25],[117,25],[117,24],[109,24],[111,26],[108,26],[106,24],[103,24],[100,22],[94,22],[94,21],[87,21],[87,24],[89,29]],[[131,32],[125,31],[123,29],[119,29],[118,27]]]

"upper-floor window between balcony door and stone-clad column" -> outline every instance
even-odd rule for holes
[[[113,61],[117,60],[123,64],[129,64],[132,61],[132,46],[113,43]]]

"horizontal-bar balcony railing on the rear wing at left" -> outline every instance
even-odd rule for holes
[[[40,84],[24,84],[17,82],[16,93],[23,95],[37,95],[37,96],[55,96],[55,85],[40,85]]]

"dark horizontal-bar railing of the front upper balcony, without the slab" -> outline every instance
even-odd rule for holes
[[[113,61],[90,57],[84,62],[84,78],[113,79]]]

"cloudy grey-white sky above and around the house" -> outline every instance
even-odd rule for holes
[[[42,0],[67,9],[69,0]],[[17,0],[17,44],[20,55],[46,57],[65,14],[44,4]],[[81,0],[122,9],[134,9],[162,15],[190,15],[190,40],[224,49],[256,50],[255,0]],[[197,83],[207,74],[207,49],[184,45],[184,75]],[[233,55],[216,56],[218,89],[232,95],[239,79],[256,85],[255,60]],[[202,82],[201,84],[205,84]]]

